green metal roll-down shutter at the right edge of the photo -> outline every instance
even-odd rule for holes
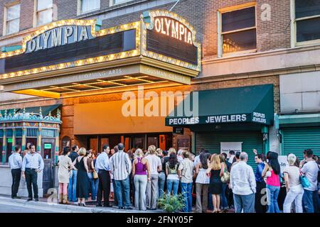
[[[320,127],[297,127],[282,129],[282,154],[294,153],[303,159],[303,151],[312,149],[315,155],[320,155]]]

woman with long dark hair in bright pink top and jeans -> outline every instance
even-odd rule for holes
[[[279,174],[278,154],[269,151],[267,153],[267,164],[262,171],[262,177],[267,177],[268,213],[280,213],[277,201],[280,192]]]

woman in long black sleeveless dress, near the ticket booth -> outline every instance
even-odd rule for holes
[[[89,197],[89,177],[87,173],[89,172],[87,167],[87,150],[85,148],[79,149],[79,157],[75,159],[73,165],[77,168],[77,189],[76,194],[78,197],[78,206],[86,206],[85,200]]]

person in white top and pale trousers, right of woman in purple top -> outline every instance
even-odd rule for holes
[[[150,145],[148,153],[145,158],[149,162],[151,180],[146,184],[146,208],[155,210],[156,203],[159,198],[158,172],[162,170],[161,159],[156,155],[156,147]]]

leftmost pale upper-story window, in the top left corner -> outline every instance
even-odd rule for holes
[[[4,34],[9,35],[12,33],[17,33],[19,31],[19,24],[20,24],[20,4],[7,6],[5,8],[4,15],[5,15]]]

